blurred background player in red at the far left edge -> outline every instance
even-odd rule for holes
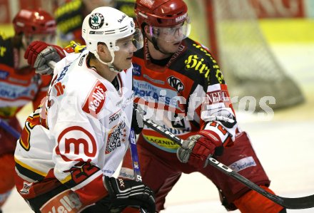
[[[24,53],[31,41],[56,38],[56,21],[46,11],[22,9],[13,26],[14,36],[0,36],[0,209],[14,187],[14,149],[21,132],[16,113],[30,102],[36,109],[51,80],[35,73]]]

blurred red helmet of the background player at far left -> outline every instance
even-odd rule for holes
[[[48,12],[41,9],[21,9],[13,19],[16,34],[50,34],[56,33],[56,21]]]

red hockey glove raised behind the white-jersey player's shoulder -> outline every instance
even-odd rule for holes
[[[47,75],[54,72],[54,69],[48,66],[49,61],[61,61],[66,54],[64,50],[55,45],[50,45],[44,41],[33,41],[26,49],[24,58],[27,63],[33,68],[36,68],[36,73]]]

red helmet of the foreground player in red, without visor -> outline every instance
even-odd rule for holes
[[[176,26],[188,19],[188,6],[183,0],[136,0],[136,21],[150,26]]]

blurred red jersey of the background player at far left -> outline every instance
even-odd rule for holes
[[[13,118],[30,101],[37,108],[49,87],[51,76],[29,66],[18,70],[20,59],[12,38],[0,36],[0,118]]]

